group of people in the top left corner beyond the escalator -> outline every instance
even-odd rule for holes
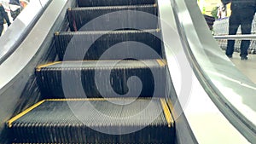
[[[20,14],[21,9],[25,8],[27,3],[28,2],[26,0],[9,0],[9,2],[4,1],[5,5],[3,6],[3,1],[0,0],[0,36],[3,33],[4,23],[7,23],[8,26],[11,24],[11,20],[9,19],[9,15],[6,12],[6,9],[9,9],[12,20],[15,20],[16,17]]]

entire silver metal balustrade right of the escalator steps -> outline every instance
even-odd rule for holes
[[[184,113],[196,139],[189,141],[177,120],[177,142],[255,141],[255,85],[218,47],[196,1],[160,0],[159,5],[166,58],[183,107],[174,115]]]

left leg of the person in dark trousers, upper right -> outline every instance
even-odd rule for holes
[[[237,32],[238,26],[240,25],[240,20],[237,17],[237,13],[232,11],[232,14],[230,15],[229,35],[235,35]],[[233,55],[234,44],[235,40],[228,40],[226,55],[229,57],[232,57]]]

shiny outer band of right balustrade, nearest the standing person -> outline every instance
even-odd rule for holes
[[[238,71],[218,47],[200,10],[195,9],[198,7],[195,1],[172,2],[172,8],[177,12],[185,52],[196,77],[229,122],[247,141],[255,142],[256,85]],[[229,130],[225,132],[230,133]],[[236,136],[233,138],[236,139]]]

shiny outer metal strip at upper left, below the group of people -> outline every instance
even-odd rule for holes
[[[36,24],[38,18],[44,13],[44,9],[51,0],[31,1],[26,9],[23,9],[14,22],[9,26],[3,36],[0,37],[0,65],[11,55],[20,43],[26,38],[28,32]]]

